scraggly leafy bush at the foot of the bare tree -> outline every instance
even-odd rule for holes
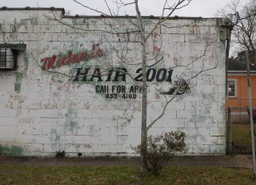
[[[186,151],[187,135],[184,132],[166,132],[162,135],[149,135],[147,138],[146,162],[148,170],[159,175],[159,171],[167,165],[167,162],[176,152]],[[140,152],[140,145],[135,147]]]

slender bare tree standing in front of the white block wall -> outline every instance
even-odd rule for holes
[[[167,27],[164,24],[165,20],[167,20],[167,18],[169,18],[171,15],[173,15],[173,12],[175,12],[176,10],[182,9],[183,7],[187,7],[192,0],[176,0],[176,1],[165,0],[163,7],[162,7],[162,13],[159,16],[159,18],[155,19],[156,21],[144,20],[142,18],[138,0],[132,0],[127,3],[125,3],[122,0],[116,0],[114,2],[116,4],[116,7],[118,8],[118,10],[116,12],[112,12],[110,10],[108,2],[105,0],[105,5],[108,7],[108,10],[109,10],[108,13],[102,12],[102,11],[98,10],[97,8],[88,7],[88,6],[86,6],[86,4],[83,4],[80,1],[77,1],[77,0],[73,0],[73,1],[75,1],[75,3],[80,4],[81,6],[85,7],[87,10],[92,10],[94,12],[101,14],[101,16],[102,16],[101,21],[102,21],[102,23],[105,24],[105,28],[93,29],[93,30],[92,29],[83,29],[80,27],[78,28],[72,24],[65,23],[64,21],[59,20],[58,18],[56,18],[54,13],[53,13],[53,16],[49,17],[48,15],[45,15],[45,17],[47,17],[50,20],[57,21],[63,25],[72,27],[72,29],[80,29],[85,32],[97,31],[100,33],[113,35],[114,37],[118,37],[118,40],[123,44],[121,49],[120,48],[117,49],[115,47],[115,45],[112,45],[112,43],[108,40],[108,37],[105,37],[106,42],[108,42],[108,44],[116,52],[116,56],[118,57],[118,64],[120,65],[120,68],[118,68],[118,69],[115,68],[114,70],[118,70],[120,72],[125,73],[126,75],[129,75],[129,77],[136,84],[138,84],[138,86],[140,86],[140,88],[142,90],[140,172],[145,174],[148,171],[147,162],[146,162],[148,129],[150,129],[155,123],[157,123],[157,121],[159,121],[159,119],[162,118],[162,116],[164,116],[167,105],[169,105],[170,102],[173,101],[173,99],[176,97],[177,94],[184,94],[184,92],[190,91],[190,88],[188,85],[189,80],[196,78],[198,75],[200,75],[203,72],[206,72],[211,69],[215,69],[217,67],[217,64],[214,65],[213,67],[205,67],[205,65],[204,65],[203,57],[206,56],[206,52],[208,50],[208,46],[211,45],[211,41],[209,41],[206,44],[205,51],[203,53],[201,53],[200,56],[197,56],[194,60],[189,61],[185,65],[176,64],[176,66],[170,67],[170,70],[172,70],[173,68],[176,68],[176,67],[184,67],[185,72],[183,74],[181,74],[181,76],[178,78],[178,81],[176,81],[175,83],[172,83],[173,87],[170,88],[170,91],[159,92],[159,94],[162,94],[162,96],[165,97],[165,100],[166,100],[165,105],[162,109],[162,112],[159,113],[159,116],[157,116],[153,121],[148,122],[148,120],[147,120],[148,82],[147,82],[147,76],[146,76],[147,71],[146,70],[148,69],[148,67],[154,67],[154,65],[159,64],[163,59],[163,56],[161,56],[159,54],[160,50],[162,49],[161,45],[157,48],[156,52],[154,53],[154,56],[148,56],[148,52],[147,52],[147,48],[146,48],[148,39],[150,39],[151,36],[154,35],[154,32],[159,28],[159,26]],[[136,12],[135,18],[127,17],[127,21],[128,21],[128,23],[130,23],[132,25],[132,27],[116,26],[115,24],[113,24],[111,22],[111,20],[108,19],[108,18],[116,18],[115,20],[118,21],[118,16],[116,16],[116,15],[118,15],[119,10],[122,7],[128,7],[128,6],[133,6],[135,8],[135,12]],[[148,23],[148,21],[151,21],[150,23],[152,25],[152,28],[150,31],[146,31],[146,29],[145,29],[146,23]],[[138,62],[137,64],[127,64],[127,58],[126,58],[127,43],[129,43],[129,42],[135,43],[138,47],[140,47],[140,50],[141,50],[140,57],[141,58],[140,58],[140,62]],[[37,61],[36,58],[34,58],[34,60]],[[185,75],[187,69],[189,69],[189,67],[192,67],[192,65],[197,62],[200,62],[200,64],[201,64],[200,71],[198,71],[197,73],[192,75],[192,77],[188,78],[187,80],[184,80],[184,75]],[[126,65],[140,66],[142,69],[142,80],[140,80],[140,81],[136,80],[135,77],[133,77],[131,73],[127,72],[127,70],[124,70],[124,67]],[[74,74],[64,74],[64,73],[57,71],[56,69],[49,68],[46,70],[48,70],[49,72],[58,72],[61,75],[75,77]],[[109,72],[106,71],[105,75],[108,75],[108,73]],[[166,95],[171,95],[171,97],[166,96]]]

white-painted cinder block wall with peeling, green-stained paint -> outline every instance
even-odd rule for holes
[[[53,18],[53,13],[79,29],[46,18]],[[157,20],[144,21],[148,33]],[[134,155],[132,146],[140,143],[141,93],[129,75],[118,71],[108,75],[111,67],[125,68],[132,76],[141,74],[141,45],[135,42],[139,35],[108,34],[113,29],[106,26],[135,31],[131,22],[135,19],[64,17],[61,10],[0,11],[0,41],[27,45],[26,52],[19,53],[17,70],[0,71],[1,154]],[[216,67],[190,80],[191,92],[173,99],[149,131],[186,132],[187,154],[225,154],[223,31],[214,18],[174,18],[158,26],[147,42],[148,58],[157,53],[163,57],[148,69],[148,123],[162,112],[165,97],[160,92],[170,90],[170,79],[187,80]],[[206,56],[187,66],[203,53]]]

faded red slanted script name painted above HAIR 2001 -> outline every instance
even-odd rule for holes
[[[91,47],[91,51],[83,51],[73,53],[69,51],[67,55],[59,53],[59,56],[53,55],[41,59],[42,70],[55,69],[57,67],[68,66],[69,64],[80,63],[81,61],[88,61],[91,58],[97,58],[103,56],[103,50],[99,48],[99,44],[94,44]]]

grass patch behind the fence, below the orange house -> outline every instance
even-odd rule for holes
[[[252,140],[249,124],[233,124],[232,137],[233,152],[235,154],[252,154]]]

